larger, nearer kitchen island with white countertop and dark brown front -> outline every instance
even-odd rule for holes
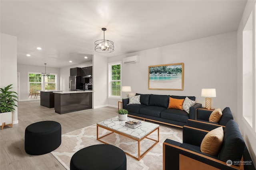
[[[92,90],[53,92],[55,112],[64,114],[91,109],[92,92]]]

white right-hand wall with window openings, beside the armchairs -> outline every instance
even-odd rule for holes
[[[255,16],[255,0],[247,1],[246,7],[244,9],[244,14],[242,16],[242,19],[240,21],[238,31],[237,31],[237,112],[238,112],[238,125],[240,128],[240,131],[242,132],[242,135],[245,139],[246,146],[248,147],[248,150],[250,152],[250,155],[252,156],[252,160],[254,164],[256,164],[256,132],[255,132],[255,111],[253,113],[253,127],[250,127],[250,125],[247,123],[247,121],[243,117],[243,107],[242,107],[242,101],[243,101],[243,29],[246,25],[246,22],[251,14],[251,12],[254,10],[254,16]],[[254,17],[253,17],[254,18]],[[255,21],[255,19],[254,19]],[[255,30],[255,23],[253,23],[253,29]],[[254,33],[255,37],[255,33]],[[254,38],[255,39],[255,38]],[[255,41],[254,41],[254,48],[255,48]],[[255,55],[255,52],[254,52]],[[255,62],[255,61],[254,61]],[[255,99],[254,99],[255,100]]]

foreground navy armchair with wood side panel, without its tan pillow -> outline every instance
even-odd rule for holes
[[[184,126],[182,131],[183,143],[170,139],[166,139],[163,143],[164,170],[242,170],[244,168],[243,164],[237,162],[243,161],[245,143],[234,120],[230,120],[224,128],[224,139],[217,156],[205,154],[200,150],[202,140],[209,131],[188,126]],[[230,160],[232,165],[227,164]]]

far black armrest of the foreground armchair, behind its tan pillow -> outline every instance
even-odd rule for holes
[[[182,128],[182,136],[183,136],[183,143],[188,143],[190,145],[195,145],[200,147],[204,136],[209,131],[197,129],[194,127],[183,126]]]

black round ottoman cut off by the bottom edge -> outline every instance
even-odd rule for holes
[[[92,145],[72,156],[70,170],[126,170],[126,155],[113,145]]]

